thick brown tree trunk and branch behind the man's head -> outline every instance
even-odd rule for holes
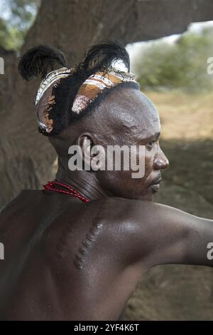
[[[182,33],[193,21],[212,19],[212,0],[43,0],[21,53],[39,43],[65,51],[75,66],[85,49],[105,38],[126,43]],[[23,188],[38,188],[50,177],[55,152],[38,133],[33,96],[39,81],[23,81],[13,51],[0,49],[0,206]]]

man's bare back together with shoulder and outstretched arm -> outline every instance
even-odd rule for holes
[[[155,264],[212,266],[205,254],[212,220],[151,202],[108,198],[83,204],[69,195],[24,190],[0,219],[4,320],[119,319]]]

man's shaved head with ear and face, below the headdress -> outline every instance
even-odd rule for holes
[[[101,104],[74,125],[70,125],[63,133],[68,144],[65,150],[65,162],[69,160],[68,146],[78,144],[82,150],[86,140],[94,145],[102,145],[107,155],[109,146],[136,146],[133,158],[137,163],[145,163],[143,177],[133,178],[133,170],[124,170],[121,158],[121,170],[97,170],[94,173],[99,185],[109,195],[130,199],[151,200],[161,179],[160,170],[168,166],[168,160],[160,150],[160,120],[158,112],[141,91],[134,88],[118,87],[111,91]],[[53,139],[51,139],[53,140]],[[54,141],[54,140],[53,140]],[[58,140],[60,143],[60,140]],[[58,145],[53,143],[53,145]],[[62,144],[62,143],[60,143]],[[143,146],[140,154],[138,147]],[[94,160],[95,155],[90,156]],[[107,156],[109,160],[109,158]],[[106,158],[106,160],[107,160]],[[115,156],[114,156],[115,158]],[[114,165],[114,163],[113,163]],[[155,186],[151,186],[155,184]]]

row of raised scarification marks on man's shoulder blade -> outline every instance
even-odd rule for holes
[[[74,259],[74,264],[77,269],[84,268],[89,252],[91,251],[92,246],[97,242],[97,236],[102,226],[102,223],[94,222],[92,227],[90,227],[89,232],[87,232],[85,238],[82,240]]]

